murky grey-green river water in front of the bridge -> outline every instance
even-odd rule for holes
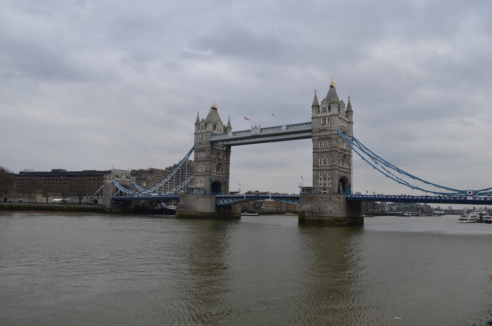
[[[0,212],[0,325],[484,325],[492,225]]]

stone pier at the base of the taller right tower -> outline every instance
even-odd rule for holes
[[[347,201],[341,194],[301,194],[299,225],[364,225],[362,201]]]

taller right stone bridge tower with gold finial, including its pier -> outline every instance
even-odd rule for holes
[[[362,202],[345,200],[352,187],[352,149],[338,130],[353,136],[353,110],[339,100],[332,78],[325,98],[318,102],[316,91],[311,105],[312,187],[300,197],[299,224],[363,225]]]

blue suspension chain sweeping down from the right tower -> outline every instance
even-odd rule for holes
[[[492,196],[492,188],[481,190],[458,190],[425,181],[380,158],[355,137],[350,139],[340,130],[338,130],[338,135],[340,135],[340,137],[352,148],[355,153],[357,153],[357,155],[362,158],[362,160],[369,163],[369,165],[384,174],[386,177],[411,189],[417,189],[425,193],[441,196]]]

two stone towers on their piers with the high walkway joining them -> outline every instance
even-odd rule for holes
[[[240,216],[238,202],[243,196],[229,194],[231,147],[296,139],[312,139],[312,187],[299,196],[279,196],[277,200],[295,200],[300,205],[299,223],[363,224],[362,201],[347,201],[351,193],[352,150],[338,134],[348,139],[353,134],[353,110],[338,98],[332,79],[326,96],[319,101],[317,92],[310,106],[311,121],[250,130],[233,131],[230,117],[222,122],[215,103],[205,118],[197,113],[194,132],[193,181],[188,192],[180,195],[177,216]],[[291,201],[292,202],[292,201]]]

